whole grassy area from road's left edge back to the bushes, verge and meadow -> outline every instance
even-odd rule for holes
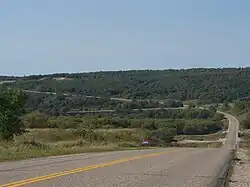
[[[137,150],[141,147],[140,131],[108,131],[84,134],[73,129],[31,130],[13,142],[0,141],[0,161],[85,152]]]

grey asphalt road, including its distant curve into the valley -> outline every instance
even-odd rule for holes
[[[5,162],[0,164],[0,186],[210,186],[237,142],[238,121],[226,117],[230,128],[222,148],[159,148]]]

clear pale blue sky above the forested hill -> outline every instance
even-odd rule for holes
[[[1,0],[0,75],[250,66],[249,0]]]

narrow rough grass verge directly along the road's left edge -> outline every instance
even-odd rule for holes
[[[88,146],[77,145],[77,142],[70,142],[69,144],[37,144],[37,145],[25,145],[16,143],[6,143],[5,147],[0,147],[0,162],[3,161],[13,161],[13,160],[23,160],[29,158],[38,158],[46,156],[57,156],[57,155],[67,155],[76,153],[86,153],[86,152],[105,152],[105,151],[118,151],[118,150],[138,150],[145,149],[137,146],[134,142],[127,142],[126,144],[106,144],[106,145],[95,145],[89,144]],[[72,146],[73,145],[73,146]],[[151,148],[151,147],[147,147]]]

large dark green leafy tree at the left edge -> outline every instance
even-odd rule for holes
[[[24,114],[26,96],[21,90],[5,90],[0,94],[0,137],[13,139],[24,133],[20,116]]]

